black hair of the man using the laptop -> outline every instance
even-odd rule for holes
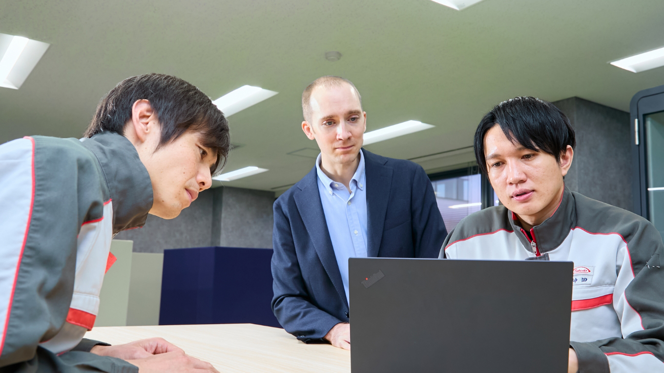
[[[503,101],[488,112],[475,131],[475,159],[484,175],[487,160],[484,137],[494,125],[500,125],[505,136],[526,149],[544,151],[560,162],[560,155],[570,145],[576,147],[570,119],[548,101],[534,97],[517,97]]]

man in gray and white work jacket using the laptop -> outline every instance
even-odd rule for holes
[[[574,261],[568,372],[664,372],[661,236],[641,216],[565,188],[575,145],[550,102],[495,106],[475,132],[475,157],[504,206],[461,220],[440,257]]]

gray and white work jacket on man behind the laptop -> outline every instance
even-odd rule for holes
[[[580,372],[664,372],[664,246],[636,214],[565,188],[530,232],[505,206],[461,220],[440,258],[573,261],[570,346]]]

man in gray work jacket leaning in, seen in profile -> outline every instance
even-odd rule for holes
[[[226,118],[195,86],[147,74],[111,90],[85,136],[0,146],[0,370],[216,372],[159,338],[82,338],[111,239],[147,214],[175,218],[210,187],[228,155]]]

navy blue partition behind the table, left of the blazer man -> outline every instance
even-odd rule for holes
[[[159,325],[252,323],[272,313],[272,249],[164,250]]]

